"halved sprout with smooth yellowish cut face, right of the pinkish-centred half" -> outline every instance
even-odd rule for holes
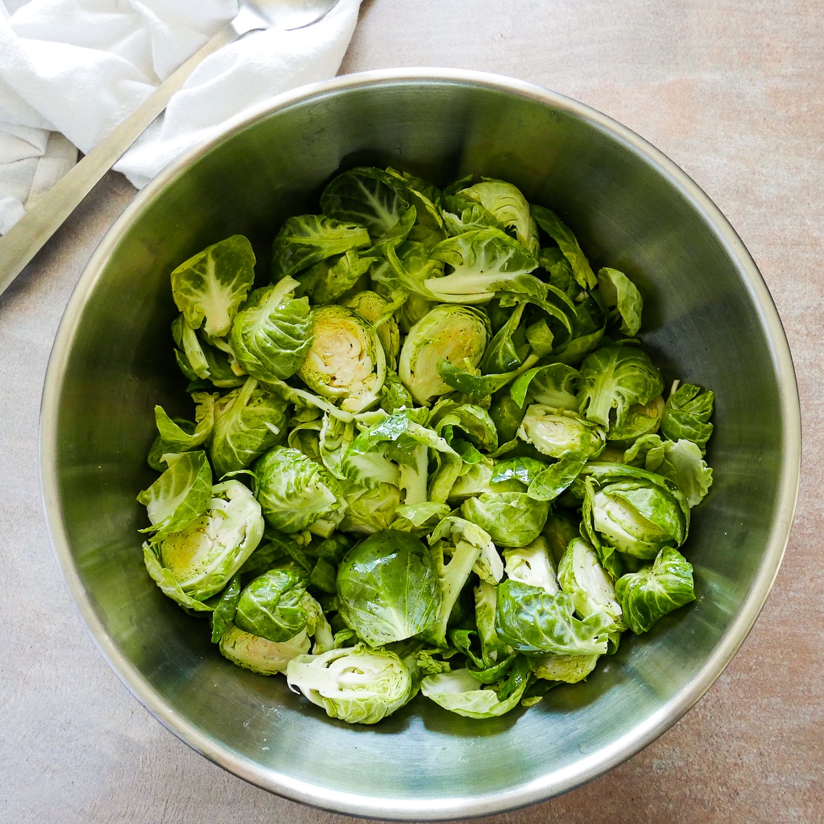
[[[406,335],[398,374],[414,400],[428,405],[452,386],[438,374],[438,363],[475,368],[489,342],[489,320],[482,311],[440,304],[427,312]]]

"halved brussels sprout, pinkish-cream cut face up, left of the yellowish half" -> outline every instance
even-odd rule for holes
[[[342,410],[368,409],[386,380],[386,358],[371,325],[352,309],[334,305],[316,307],[311,319],[315,338],[297,377]]]

